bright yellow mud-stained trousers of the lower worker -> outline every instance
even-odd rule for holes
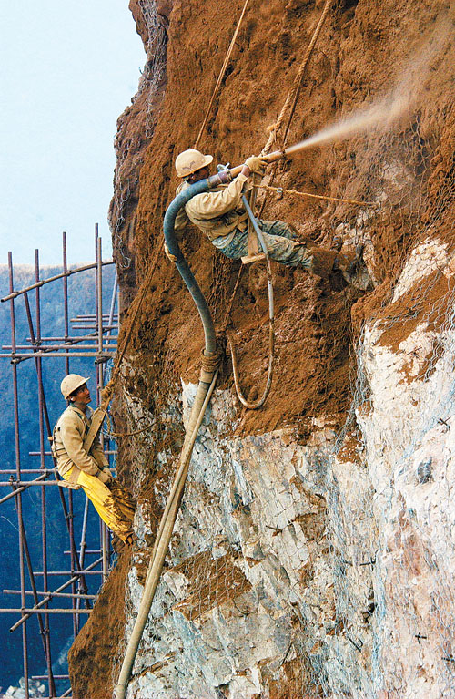
[[[66,472],[63,477],[65,480],[69,480],[73,468]],[[80,472],[77,485],[84,490],[107,527],[122,541],[126,541],[133,533],[132,524],[136,509],[133,496],[116,479],[106,485],[96,476],[90,476],[84,471]]]

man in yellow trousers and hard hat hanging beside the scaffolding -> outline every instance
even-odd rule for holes
[[[85,444],[93,414],[88,406],[91,396],[87,381],[84,376],[68,374],[60,385],[69,404],[56,422],[52,452],[68,487],[82,488],[109,529],[131,544],[136,500],[112,475],[99,436],[90,447]]]

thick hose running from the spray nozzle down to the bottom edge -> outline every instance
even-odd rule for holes
[[[174,224],[178,211],[185,206],[187,201],[192,199],[197,194],[201,194],[204,191],[217,187],[220,182],[221,180],[219,176],[213,175],[207,180],[200,180],[199,182],[192,184],[186,190],[183,190],[167,208],[163,224],[167,248],[171,254],[176,256],[177,270],[183,278],[183,281],[187,284],[187,289],[189,293],[191,293],[193,300],[197,305],[197,311],[199,312],[204,327],[205,348],[202,357],[203,361],[201,374],[199,377],[199,383],[197,385],[197,393],[191,408],[185,441],[180,454],[179,468],[167,498],[167,505],[165,511],[163,512],[157,531],[154,548],[148,564],[144,593],[137,612],[136,622],[126,647],[125,658],[122,663],[122,668],[116,684],[116,699],[125,699],[126,697],[126,687],[133,670],[137,648],[147,623],[150,607],[152,606],[155,591],[157,590],[157,584],[163,569],[167,549],[174,530],[174,524],[177,519],[180,501],[183,497],[189,461],[193,452],[197,432],[202,423],[210,396],[212,395],[213,389],[215,388],[215,383],[217,381],[217,343],[212,316],[210,314],[204,294],[201,292],[194,274],[191,272],[187,261],[185,260],[178,246],[174,232]]]

